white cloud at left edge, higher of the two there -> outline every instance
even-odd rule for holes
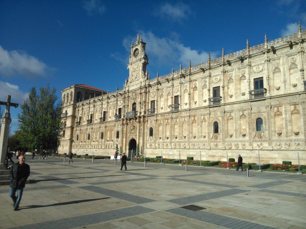
[[[33,78],[47,76],[48,67],[34,56],[21,51],[7,51],[0,45],[0,74],[6,77],[17,74]]]

